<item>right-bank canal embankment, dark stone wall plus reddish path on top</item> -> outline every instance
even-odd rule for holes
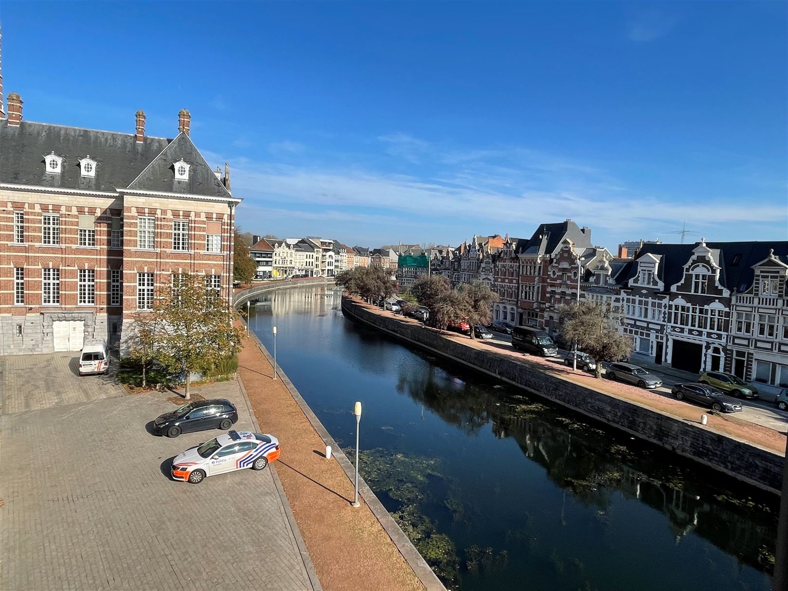
[[[369,306],[359,299],[343,296],[342,312],[346,318],[374,326],[436,355],[517,385],[734,478],[770,492],[780,492],[785,458],[775,452],[775,448],[779,448],[780,444],[785,445],[785,437],[781,433],[771,432],[764,436],[763,433],[757,433],[758,426],[741,426],[714,416],[709,416],[708,425],[702,426],[697,420],[680,416],[687,410],[697,410],[699,412],[695,414],[699,417],[701,411],[697,407],[693,409],[686,403],[664,399],[652,392],[628,386],[626,390],[632,392],[623,392],[621,385],[619,388],[622,394],[604,392],[593,387],[593,377],[579,377],[555,363],[524,358],[489,344],[476,344],[466,337],[447,336]],[[667,402],[671,405],[676,403],[678,416],[663,410],[669,407]],[[746,437],[748,429],[764,436],[762,439],[768,445],[745,440],[743,437]]]

